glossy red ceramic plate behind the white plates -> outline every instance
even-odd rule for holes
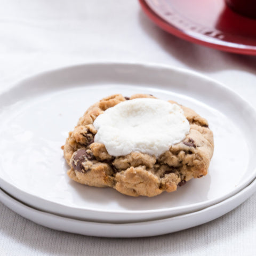
[[[224,0],[139,0],[165,31],[218,50],[256,55],[256,19],[239,15]]]

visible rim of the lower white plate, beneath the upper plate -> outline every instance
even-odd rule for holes
[[[33,221],[37,223],[38,225],[45,226],[47,228],[52,228],[59,231],[66,231],[69,233],[74,234],[80,234],[80,235],[87,235],[87,236],[96,236],[96,237],[113,237],[113,238],[132,238],[132,237],[150,237],[150,236],[156,236],[156,235],[164,235],[164,234],[170,234],[174,233],[176,231],[185,230],[188,228],[193,228],[199,225],[202,225],[204,223],[210,222],[214,219],[217,219],[221,217],[222,215],[225,215],[226,213],[234,210],[237,206],[241,205],[246,199],[248,199],[250,196],[252,196],[256,192],[256,179],[254,179],[247,187],[239,191],[237,194],[217,203],[214,205],[211,205],[209,207],[206,207],[203,210],[195,211],[192,213],[182,214],[170,218],[163,218],[163,219],[157,219],[157,220],[149,220],[149,221],[141,221],[141,222],[131,222],[131,223],[100,223],[100,222],[92,222],[92,221],[83,221],[83,220],[76,220],[72,218],[62,217],[57,214],[52,214],[48,212],[43,212],[37,209],[34,209],[33,207],[30,207],[26,204],[23,204],[18,199],[13,198],[12,196],[5,193],[5,191],[2,190],[0,187],[0,201],[5,204],[9,209],[12,211],[18,213],[23,218],[29,219],[30,221]],[[235,203],[234,203],[235,202]],[[232,204],[233,203],[233,204]],[[226,207],[225,207],[226,206]],[[21,210],[20,210],[21,209]],[[22,211],[23,209],[23,211]],[[221,210],[221,211],[220,211]],[[33,215],[32,217],[28,218],[28,212],[32,211]],[[210,213],[215,212],[215,214],[211,215]],[[37,218],[37,215],[43,215],[48,222],[47,225]],[[203,220],[202,215],[206,215],[207,217]],[[200,218],[198,218],[198,216]],[[197,219],[195,219],[197,217]],[[191,219],[193,223],[186,222],[183,219]],[[52,219],[52,220],[51,220]],[[57,220],[57,221],[55,221]],[[70,230],[67,229],[65,225],[59,225],[58,220],[62,221],[71,221],[72,225],[76,224],[75,228],[82,227],[83,225],[95,225],[100,226],[101,228],[104,227],[107,229],[107,232],[95,232],[94,229],[79,229],[78,230]],[[177,222],[180,223],[183,226],[178,225],[177,228]],[[50,223],[50,224],[49,224]],[[170,225],[170,228],[173,229],[172,223],[176,225],[176,228],[173,230],[166,230],[159,232],[157,229],[150,228],[150,231],[153,230],[153,233],[150,234],[147,230],[144,230],[144,228],[147,226],[147,224],[155,224],[159,227],[159,225]],[[188,224],[189,223],[189,224]],[[126,228],[127,230],[131,230],[133,228],[137,228],[139,226],[139,230],[135,235],[123,235],[122,230]],[[169,226],[168,226],[169,227]],[[115,229],[115,230],[114,230]],[[113,234],[114,230],[114,234]],[[117,234],[115,234],[117,233]],[[134,233],[133,233],[134,234]]]

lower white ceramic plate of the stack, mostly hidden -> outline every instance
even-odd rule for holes
[[[242,204],[256,191],[256,180],[225,201],[204,210],[154,221],[135,223],[99,223],[60,217],[35,210],[0,189],[0,201],[22,217],[39,225],[70,233],[99,237],[145,237],[169,234],[214,220]]]

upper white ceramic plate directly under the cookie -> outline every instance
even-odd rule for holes
[[[215,142],[209,174],[153,198],[71,181],[60,147],[87,107],[113,93],[154,94],[205,117]],[[101,63],[51,71],[0,94],[0,119],[0,186],[66,217],[113,223],[171,217],[218,203],[256,176],[255,110],[225,86],[180,69]]]

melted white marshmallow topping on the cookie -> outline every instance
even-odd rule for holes
[[[185,139],[189,123],[177,104],[152,98],[126,100],[108,108],[93,125],[94,141],[108,154],[124,156],[132,151],[158,157]]]

